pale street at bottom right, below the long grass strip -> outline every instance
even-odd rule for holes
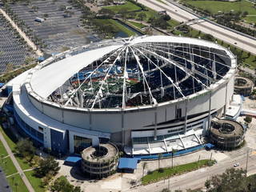
[[[248,174],[256,174],[256,154],[250,154],[248,158]],[[240,166],[238,168],[246,169],[246,154],[242,154],[237,158],[223,160],[218,162],[214,166],[202,168],[200,170],[195,170],[193,172],[182,174],[174,178],[170,178],[170,190],[186,190],[186,189],[197,189],[204,186],[207,178],[215,174],[222,174],[226,168],[233,167],[234,163],[239,162]],[[238,169],[236,168],[236,169]],[[168,188],[168,180],[156,182],[147,186],[138,186],[131,192],[157,192],[164,188]],[[127,190],[128,191],[128,190]]]

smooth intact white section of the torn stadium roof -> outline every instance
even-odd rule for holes
[[[32,89],[42,98],[47,98],[54,90],[62,86],[68,78],[72,77],[79,70],[82,70],[83,67],[119,47],[120,45],[105,46],[96,50],[88,50],[82,54],[70,56],[37,70],[34,72],[30,81]]]

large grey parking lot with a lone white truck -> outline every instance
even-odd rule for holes
[[[66,6],[70,7],[70,17],[64,17],[66,9],[63,7]],[[81,27],[79,21],[81,11],[72,7],[67,0],[39,0],[29,5],[18,2],[12,4],[11,9],[26,23],[26,26],[30,26],[37,38],[42,39],[43,44],[46,45],[42,50],[47,54],[99,40],[97,35],[92,35],[90,31]],[[35,18],[44,18],[45,21],[35,22]]]

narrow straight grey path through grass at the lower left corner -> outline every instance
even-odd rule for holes
[[[34,188],[31,186],[29,180],[26,178],[26,174],[24,174],[21,166],[19,166],[17,159],[14,157],[14,154],[11,152],[10,146],[8,146],[8,144],[6,142],[6,139],[3,137],[1,132],[0,132],[0,140],[1,140],[2,144],[3,144],[3,146],[5,146],[7,153],[10,155],[10,159],[14,163],[14,166],[18,170],[18,174],[21,175],[21,178],[22,178],[23,182],[25,183],[26,188],[30,192],[34,192]]]

